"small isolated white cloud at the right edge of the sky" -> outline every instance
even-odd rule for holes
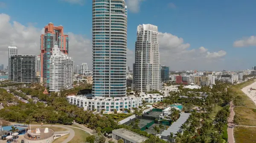
[[[233,43],[234,47],[248,47],[256,46],[256,36],[250,36],[241,40],[237,40]]]

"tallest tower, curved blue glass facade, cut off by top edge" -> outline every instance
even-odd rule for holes
[[[93,0],[93,96],[126,95],[125,0]]]

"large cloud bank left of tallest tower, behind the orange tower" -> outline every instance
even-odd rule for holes
[[[19,22],[10,21],[7,14],[0,14],[0,64],[7,66],[8,46],[10,45],[18,47],[18,54],[38,55],[40,53],[40,35],[43,32],[43,29],[35,28],[33,24],[25,26]],[[69,53],[75,64],[80,65],[82,62],[87,62],[92,65],[91,39],[72,32],[67,34],[70,40]]]

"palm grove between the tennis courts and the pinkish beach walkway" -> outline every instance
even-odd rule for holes
[[[230,115],[229,103],[233,99],[228,87],[229,83],[216,82],[211,88],[202,87],[197,90],[183,89],[179,92],[170,92],[163,104],[183,104],[183,112],[192,113],[187,121],[180,126],[180,132],[170,133],[170,143],[224,143],[227,119]],[[204,94],[206,96],[200,95]],[[198,98],[198,97],[201,98]],[[193,107],[201,107],[201,112],[196,112]],[[216,111],[219,106],[223,109]],[[214,122],[210,119],[212,112],[217,112]],[[176,115],[176,113],[175,113]],[[175,118],[173,118],[175,119]]]

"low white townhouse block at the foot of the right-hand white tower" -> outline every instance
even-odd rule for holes
[[[145,100],[146,103],[156,103],[163,101],[163,95],[160,95],[158,93],[154,94],[145,94],[145,93],[140,93],[140,98],[141,100]]]

